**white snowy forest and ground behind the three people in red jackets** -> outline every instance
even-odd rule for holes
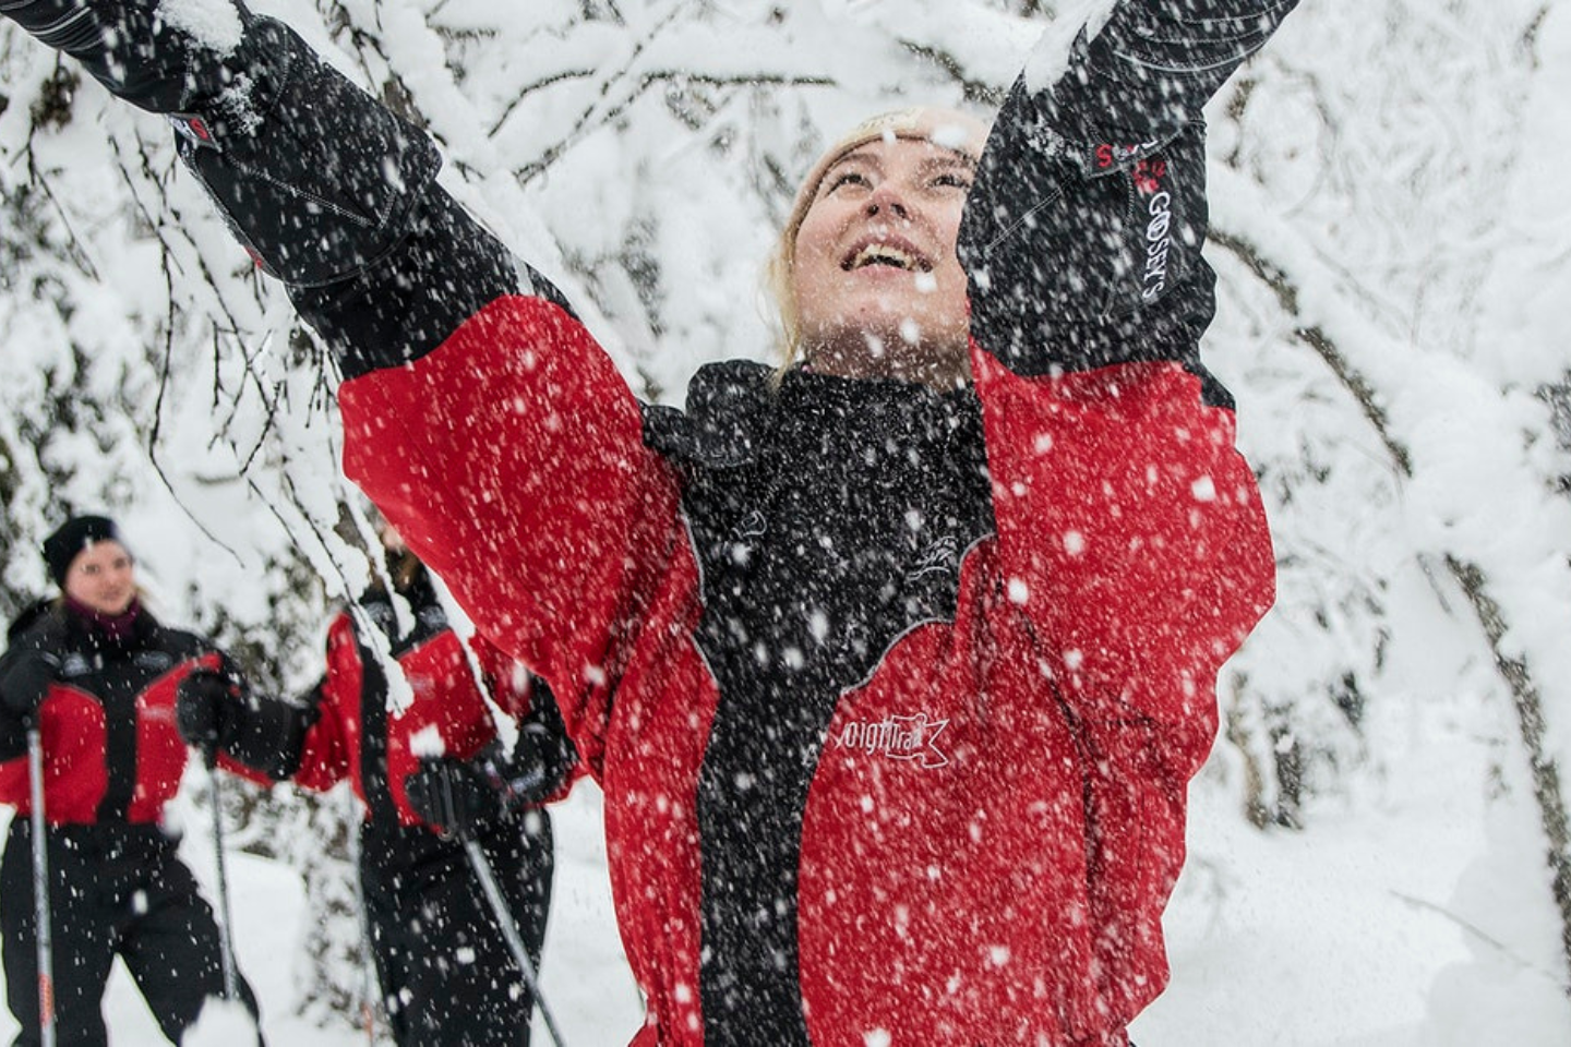
[[[255,6],[418,113],[445,184],[572,294],[635,389],[680,402],[701,363],[768,356],[759,264],[826,137],[996,97],[1043,30],[1106,5]],[[327,601],[366,571],[335,531],[360,502],[320,352],[159,119],[9,27],[0,97],[0,611],[44,592],[35,549],[64,512],[108,509],[168,620],[302,686]],[[1134,1039],[1571,1045],[1549,774],[1571,764],[1571,5],[1304,0],[1208,119],[1207,356],[1280,600],[1219,686],[1174,980]],[[209,876],[190,777],[178,815]],[[297,1012],[322,964],[300,855],[322,845],[287,824],[272,846],[234,834],[240,965],[270,1042],[366,1042],[353,1014]],[[556,824],[545,992],[570,1044],[627,1042],[594,788]],[[123,976],[105,1009],[116,1047],[160,1042]]]

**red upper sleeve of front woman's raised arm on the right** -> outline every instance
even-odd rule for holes
[[[1021,378],[977,353],[976,367],[1007,596],[1059,653],[1059,689],[1090,719],[1203,714],[1274,598],[1233,413],[1205,407],[1178,364]]]

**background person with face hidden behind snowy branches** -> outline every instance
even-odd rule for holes
[[[179,730],[253,777],[328,790],[350,782],[360,882],[382,1001],[399,1047],[525,1047],[534,997],[468,865],[481,843],[539,967],[551,898],[551,823],[575,760],[545,684],[449,626],[430,573],[385,532],[386,575],[328,625],[327,670],[303,702],[247,694],[222,672],[179,688]],[[408,705],[390,708],[407,683]],[[487,708],[517,717],[504,752]],[[242,739],[261,725],[280,744]]]

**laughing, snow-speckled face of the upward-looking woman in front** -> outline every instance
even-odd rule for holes
[[[972,168],[925,140],[878,140],[825,173],[792,265],[815,370],[954,385],[968,374],[955,257]]]

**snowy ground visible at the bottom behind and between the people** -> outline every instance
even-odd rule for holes
[[[1554,931],[1513,926],[1514,914],[1547,910],[1544,874],[1489,860],[1507,852],[1500,832],[1533,832],[1525,797],[1510,790],[1510,766],[1502,764],[1505,797],[1488,799],[1499,749],[1488,739],[1499,736],[1499,716],[1456,699],[1373,724],[1384,750],[1400,755],[1349,794],[1318,801],[1299,834],[1249,829],[1222,785],[1227,764],[1218,753],[1196,788],[1191,862],[1169,912],[1174,981],[1141,1017],[1136,1042],[1571,1044],[1571,1006],[1554,989]],[[567,1042],[589,1047],[625,1044],[639,1020],[613,926],[599,799],[580,786],[556,813],[559,866],[544,970]],[[204,834],[187,837],[200,876],[212,862],[204,843]],[[363,1033],[313,1028],[291,1014],[292,965],[280,958],[294,954],[300,936],[297,877],[247,855],[231,859],[229,876],[240,964],[262,998],[269,1041],[364,1044]],[[1497,901],[1480,907],[1480,895]],[[1491,954],[1510,959],[1508,992],[1485,984]],[[115,1047],[163,1042],[124,975],[116,973],[105,1006]],[[1469,1020],[1453,1020],[1456,1009]],[[13,1031],[9,1016],[0,1017],[0,1038]],[[539,1022],[534,1042],[550,1042]]]

